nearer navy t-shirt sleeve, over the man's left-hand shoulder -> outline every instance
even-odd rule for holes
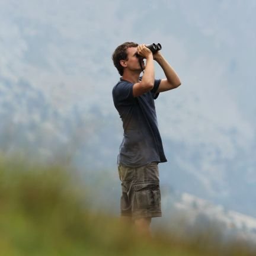
[[[133,100],[133,84],[130,82],[120,82],[113,91],[116,102]]]

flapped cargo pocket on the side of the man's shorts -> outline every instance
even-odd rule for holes
[[[143,183],[133,185],[138,209],[159,207],[161,194],[158,183]]]

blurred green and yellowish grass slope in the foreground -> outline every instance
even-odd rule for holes
[[[71,167],[0,156],[1,255],[256,255],[245,243],[219,241],[214,227],[184,238],[159,228],[142,238],[93,212],[81,180]]]

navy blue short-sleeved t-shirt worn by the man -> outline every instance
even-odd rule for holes
[[[151,91],[133,97],[133,84],[120,79],[112,95],[114,106],[123,121],[123,141],[118,164],[140,167],[150,162],[167,162],[158,130],[154,100],[161,79],[155,80]]]

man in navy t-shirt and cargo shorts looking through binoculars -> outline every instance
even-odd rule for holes
[[[117,161],[122,188],[121,217],[133,220],[139,232],[150,234],[151,218],[162,215],[158,163],[167,161],[154,100],[159,92],[177,88],[181,82],[161,52],[153,54],[145,44],[123,43],[112,59],[121,75],[112,91],[124,130]],[[155,79],[153,60],[163,69],[165,79]]]

